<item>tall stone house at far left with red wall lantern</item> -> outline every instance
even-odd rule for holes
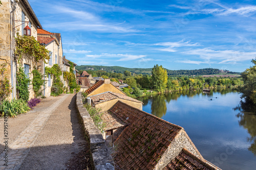
[[[9,79],[12,93],[9,99],[16,99],[16,74],[18,67],[24,67],[25,74],[32,80],[31,74],[37,62],[29,57],[24,57],[20,65],[14,56],[15,37],[19,35],[33,36],[37,40],[37,29],[42,26],[27,0],[11,1],[1,0],[0,5],[0,64],[6,63],[5,76]],[[28,86],[29,99],[34,98],[32,85]]]

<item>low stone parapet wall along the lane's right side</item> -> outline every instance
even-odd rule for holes
[[[114,162],[108,148],[106,147],[105,140],[103,139],[99,129],[95,127],[89,112],[83,107],[81,92],[76,94],[76,107],[80,113],[86,135],[90,141],[90,151],[95,169],[114,170]]]

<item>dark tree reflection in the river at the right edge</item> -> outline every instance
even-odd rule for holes
[[[234,108],[239,113],[236,115],[239,120],[239,125],[247,129],[250,134],[248,141],[252,142],[248,148],[254,155],[256,155],[256,106],[248,102],[240,102],[240,105]]]

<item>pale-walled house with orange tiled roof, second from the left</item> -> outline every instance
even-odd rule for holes
[[[50,74],[45,74],[45,67],[52,67],[54,64],[61,66],[63,54],[61,35],[60,33],[51,33],[43,29],[37,29],[37,40],[41,45],[44,45],[48,51],[50,51],[50,60],[48,63],[46,64],[43,61],[39,61],[38,63],[41,66],[41,74],[46,77],[45,80],[47,82],[43,87],[43,95],[48,98],[51,95],[53,80]],[[63,81],[63,74],[61,76],[61,80]]]

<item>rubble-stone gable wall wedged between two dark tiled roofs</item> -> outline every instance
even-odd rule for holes
[[[182,129],[180,130],[179,134],[175,137],[175,139],[170,143],[168,149],[162,155],[155,169],[163,169],[170,162],[170,160],[173,160],[176,156],[180,154],[183,148],[193,153],[199,159],[204,160],[204,158],[199,153],[194,143],[188,137],[184,129]]]

